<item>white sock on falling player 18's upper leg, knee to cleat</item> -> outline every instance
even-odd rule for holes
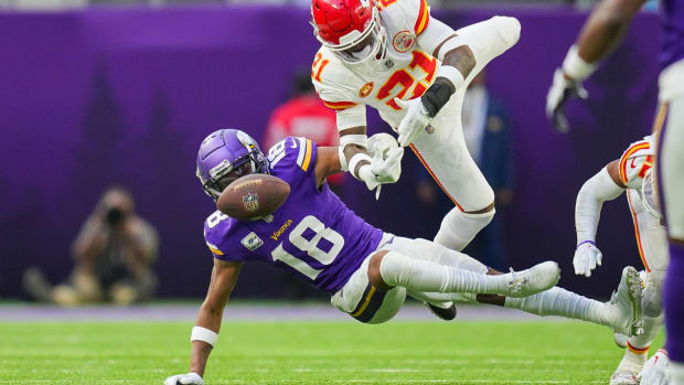
[[[405,287],[414,292],[504,293],[510,275],[488,276],[428,260],[409,258],[397,252],[385,254],[380,272],[389,286]]]

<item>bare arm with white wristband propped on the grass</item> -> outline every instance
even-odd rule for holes
[[[214,258],[212,280],[206,298],[197,313],[195,327],[192,329],[190,373],[171,376],[167,378],[164,385],[203,384],[202,376],[204,376],[206,361],[218,339],[223,309],[237,281],[241,266],[242,263],[229,263]]]

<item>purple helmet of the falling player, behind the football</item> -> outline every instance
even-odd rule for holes
[[[250,136],[221,129],[204,138],[197,153],[197,178],[214,201],[231,182],[252,173],[268,173],[268,160]]]

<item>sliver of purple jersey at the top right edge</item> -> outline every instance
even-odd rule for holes
[[[684,58],[684,1],[661,0],[661,68]]]

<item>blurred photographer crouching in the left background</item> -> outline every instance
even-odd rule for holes
[[[136,215],[126,189],[105,191],[72,246],[74,270],[67,282],[52,287],[36,268],[24,274],[24,289],[33,298],[64,306],[110,300],[130,304],[150,299],[157,276],[157,231]]]

